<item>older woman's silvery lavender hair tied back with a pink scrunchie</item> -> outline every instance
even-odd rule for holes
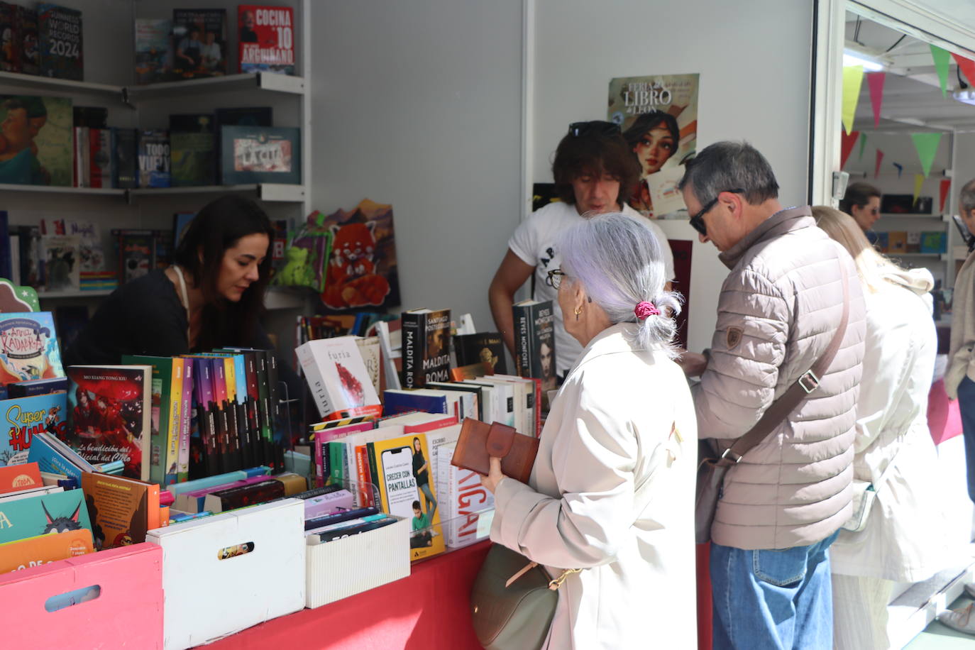
[[[681,295],[666,291],[663,246],[642,219],[622,212],[598,214],[566,230],[556,250],[569,282],[580,282],[609,321],[635,323],[634,338],[646,350],[666,350],[677,356],[674,317],[681,312]],[[643,320],[635,309],[652,302],[660,312]]]

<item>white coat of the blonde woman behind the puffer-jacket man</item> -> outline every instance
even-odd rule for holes
[[[937,452],[927,428],[927,395],[937,337],[926,269],[888,274],[894,284],[867,301],[863,382],[857,402],[854,477],[876,481],[877,500],[858,533],[840,530],[833,573],[897,582],[925,580],[946,560],[935,479]]]

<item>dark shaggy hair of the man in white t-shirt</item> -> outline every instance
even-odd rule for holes
[[[572,181],[579,176],[602,176],[608,173],[619,179],[621,205],[630,200],[633,188],[640,181],[640,163],[621,134],[569,132],[559,142],[552,162],[559,198],[569,206],[575,205]]]

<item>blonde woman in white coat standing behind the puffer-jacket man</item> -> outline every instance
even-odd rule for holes
[[[927,395],[938,342],[927,269],[882,257],[848,214],[815,206],[816,224],[853,257],[867,305],[863,381],[853,442],[854,492],[876,500],[865,524],[841,529],[830,548],[833,640],[837,650],[885,650],[894,584],[934,575],[945,560],[942,512],[934,507],[937,451],[927,428]],[[873,496],[873,495],[871,495]],[[856,503],[856,499],[854,499]]]

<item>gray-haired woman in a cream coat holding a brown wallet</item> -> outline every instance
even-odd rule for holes
[[[528,484],[492,459],[494,542],[570,574],[548,648],[695,648],[697,425],[674,363],[678,296],[642,222],[594,216],[566,231],[559,291],[584,346],[552,403]]]

